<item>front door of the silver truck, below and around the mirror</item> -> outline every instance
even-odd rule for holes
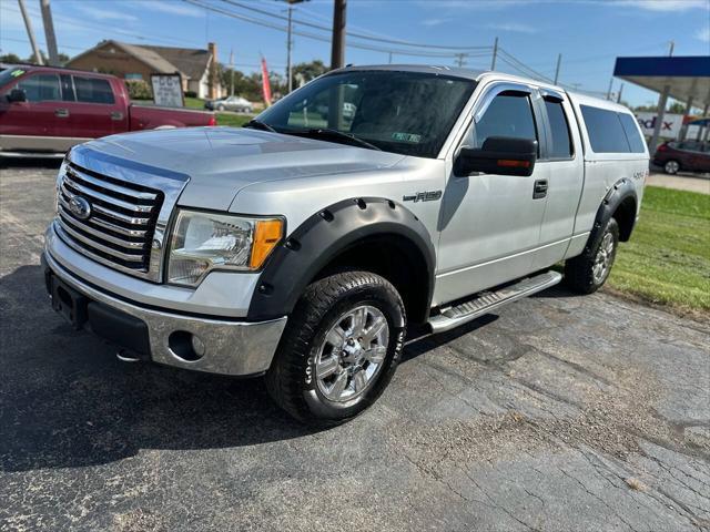
[[[523,84],[485,88],[462,145],[480,147],[489,136],[534,139],[539,145],[534,99],[537,91]],[[439,217],[435,305],[530,272],[547,201],[542,181],[537,167],[529,177],[452,171]]]

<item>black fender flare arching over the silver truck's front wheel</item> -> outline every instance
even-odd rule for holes
[[[429,232],[410,211],[390,200],[358,197],[308,217],[268,258],[250,303],[247,319],[291,314],[312,279],[334,258],[368,237],[394,235],[414,244],[426,263],[427,307],[434,291],[436,254]]]

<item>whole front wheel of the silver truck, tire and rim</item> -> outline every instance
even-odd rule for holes
[[[368,272],[310,285],[266,374],[276,403],[305,422],[337,424],[365,410],[395,371],[406,327],[392,284]]]

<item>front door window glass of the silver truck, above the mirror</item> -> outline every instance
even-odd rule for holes
[[[489,136],[537,140],[532,108],[528,96],[499,94],[476,123],[476,146]]]

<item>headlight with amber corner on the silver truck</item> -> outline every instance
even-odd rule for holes
[[[258,269],[283,232],[282,218],[181,209],[170,239],[168,283],[196,286],[212,269]]]

